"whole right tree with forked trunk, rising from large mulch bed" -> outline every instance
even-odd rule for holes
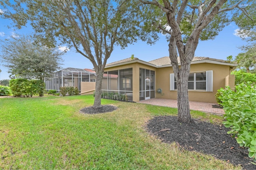
[[[232,21],[240,28],[252,28],[255,26],[256,2],[255,0],[140,0],[140,2],[155,8],[158,17],[152,18],[152,25],[169,35],[169,56],[178,89],[178,120],[190,122],[188,76],[199,39],[214,39],[218,32]]]

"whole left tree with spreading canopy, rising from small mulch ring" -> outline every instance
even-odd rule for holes
[[[114,45],[124,48],[140,37],[152,43],[150,34],[140,27],[146,21],[136,0],[16,0],[1,1],[6,9],[4,18],[14,21],[17,28],[31,22],[37,40],[46,45],[73,46],[92,62],[96,71],[94,108],[101,106],[104,67]],[[22,4],[24,2],[24,4]],[[7,10],[11,8],[10,10]],[[15,11],[16,13],[12,13]]]

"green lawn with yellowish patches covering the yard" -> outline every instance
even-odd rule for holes
[[[84,115],[92,95],[0,99],[0,169],[240,169],[145,130],[158,115],[177,109],[102,99],[111,113]],[[192,117],[223,118],[192,111]]]

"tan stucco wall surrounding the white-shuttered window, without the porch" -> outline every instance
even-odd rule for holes
[[[192,64],[190,72],[213,70],[213,92],[189,91],[189,101],[216,103],[215,94],[220,87],[225,87],[225,78],[230,73],[230,66],[212,63]],[[162,94],[156,93],[156,98],[177,99],[177,91],[170,91],[170,73],[172,67],[158,68],[156,72],[156,89],[161,88]],[[232,84],[231,80],[229,81]]]

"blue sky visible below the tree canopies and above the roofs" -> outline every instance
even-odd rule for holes
[[[10,38],[15,34],[26,35],[33,32],[30,28],[22,28],[21,30],[7,28],[7,25],[10,24],[9,20],[0,18],[0,23],[0,39]],[[227,56],[233,55],[234,58],[238,53],[242,52],[238,47],[246,44],[239,36],[235,35],[237,29],[238,27],[231,23],[229,26],[226,26],[214,40],[199,42],[195,56],[226,60]],[[144,61],[165,57],[169,55],[168,42],[165,36],[160,35],[160,40],[154,45],[147,45],[146,42],[139,41],[133,45],[128,45],[128,47],[123,50],[121,50],[120,47],[115,47],[107,63],[129,58],[132,54],[134,54],[134,57]],[[63,60],[63,68],[93,68],[92,63],[81,54],[76,53],[74,49],[70,49],[70,51],[63,56]],[[2,63],[0,63],[0,69],[2,70],[0,80],[9,79],[9,73],[7,73],[8,69],[3,67]]]

